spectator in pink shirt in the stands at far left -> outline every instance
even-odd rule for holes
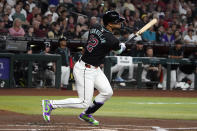
[[[20,19],[16,18],[14,20],[12,28],[9,28],[9,34],[11,36],[22,36],[22,37],[25,35],[25,31],[21,27],[21,20]]]

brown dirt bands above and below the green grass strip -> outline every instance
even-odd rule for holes
[[[95,95],[97,92],[95,93]],[[75,91],[59,89],[0,89],[0,95],[70,96]],[[197,97],[196,91],[114,90],[114,96]],[[127,117],[96,117],[100,126],[90,126],[77,116],[52,116],[45,123],[42,115],[25,115],[0,110],[0,130],[62,131],[197,131],[197,120],[161,120]]]

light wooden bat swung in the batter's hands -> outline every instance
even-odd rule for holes
[[[157,23],[157,19],[156,18],[152,19],[150,22],[148,22],[144,27],[142,27],[135,34],[131,34],[129,36],[129,39],[125,42],[125,44],[128,43],[130,40],[133,40],[135,37],[141,35],[143,32],[145,32],[146,30],[148,30],[151,26],[153,26],[156,23]]]

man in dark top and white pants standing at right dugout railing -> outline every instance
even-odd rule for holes
[[[183,58],[183,48],[182,48],[183,42],[182,41],[175,41],[175,47],[172,47],[169,51],[169,58],[171,59],[181,59]],[[164,65],[163,68],[163,82],[162,87],[163,90],[166,90],[166,78],[167,78],[167,65]],[[177,64],[171,65],[171,80],[170,80],[170,89],[174,88],[176,85],[176,70],[178,68]]]

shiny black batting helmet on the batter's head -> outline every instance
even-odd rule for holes
[[[103,23],[107,25],[108,23],[119,23],[123,22],[124,18],[120,17],[120,15],[116,11],[107,11],[103,15]]]

